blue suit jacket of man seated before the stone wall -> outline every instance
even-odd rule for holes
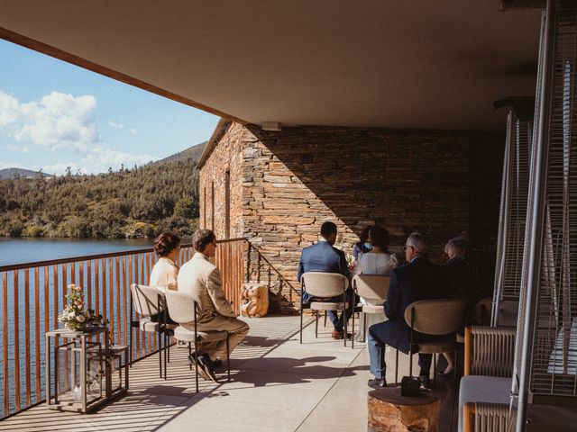
[[[298,262],[298,282],[300,282],[301,276],[307,272],[340,273],[348,279],[351,278],[344,252],[332,247],[327,241],[319,241],[303,249]],[[310,295],[303,292],[300,295],[303,302],[309,302]]]

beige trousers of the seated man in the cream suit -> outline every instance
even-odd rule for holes
[[[181,324],[182,327],[194,331],[194,322],[189,322],[187,324]],[[231,317],[223,317],[222,315],[216,315],[215,318],[208,322],[198,323],[198,331],[228,331],[229,336],[229,349],[232,353],[234,348],[240,344],[246,335],[249,333],[249,325],[241,320]],[[200,347],[198,347],[198,354],[206,354],[210,356],[211,360],[220,358],[221,360],[226,359],[226,339],[215,340],[211,342],[201,342]]]

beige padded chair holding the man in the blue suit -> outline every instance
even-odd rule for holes
[[[338,273],[307,272],[300,278],[301,290],[306,291],[316,299],[327,299],[342,295],[345,298],[349,280]],[[315,301],[302,303],[300,306],[300,343],[303,343],[303,311],[315,311],[315,338],[318,338],[318,311],[343,311],[344,317],[344,346],[346,347],[347,320],[346,302]]]

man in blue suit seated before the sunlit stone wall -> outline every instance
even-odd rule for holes
[[[298,262],[298,282],[300,277],[307,272],[324,272],[324,273],[340,273],[351,279],[349,267],[346,264],[346,258],[342,250],[333,247],[336,241],[336,225],[333,222],[324,222],[321,226],[321,237],[315,245],[305,247]],[[305,291],[300,293],[301,302],[308,303],[314,301],[314,297]],[[346,292],[346,301],[349,302],[349,307],[346,311],[346,316],[351,317],[353,314],[353,290],[349,288]],[[343,296],[337,295],[330,299],[324,299],[325,302],[343,302]],[[333,323],[333,338],[344,338],[344,321],[343,314],[339,317],[337,312],[328,311],[328,317]],[[350,338],[350,335],[347,335]]]

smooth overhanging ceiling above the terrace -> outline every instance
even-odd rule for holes
[[[498,0],[2,0],[0,37],[251,123],[502,130],[493,101],[535,94],[540,15]]]

